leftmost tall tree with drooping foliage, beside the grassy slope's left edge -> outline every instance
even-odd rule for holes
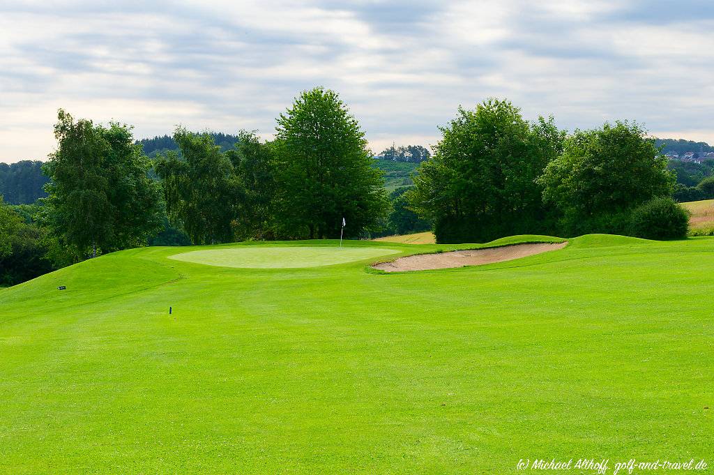
[[[144,244],[161,224],[161,196],[131,127],[74,121],[60,109],[54,134],[43,210],[52,234],[78,258]]]

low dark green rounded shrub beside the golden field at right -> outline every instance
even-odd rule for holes
[[[689,230],[689,211],[671,198],[657,197],[633,209],[630,234],[645,239],[683,239]]]

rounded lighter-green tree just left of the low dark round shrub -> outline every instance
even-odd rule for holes
[[[633,206],[672,195],[674,177],[645,130],[618,121],[575,131],[539,183],[545,201],[562,213],[562,232],[573,235],[623,232]]]

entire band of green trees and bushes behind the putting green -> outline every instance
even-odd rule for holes
[[[217,144],[179,126],[176,150],[153,159],[131,126],[60,110],[57,148],[43,167],[48,196],[25,209],[3,206],[0,264],[11,274],[18,256],[46,271],[166,241],[338,238],[343,219],[348,238],[431,228],[442,243],[687,233],[667,160],[634,122],[568,134],[552,117],[526,121],[510,102],[489,99],[459,108],[441,132],[414,186],[388,196],[361,126],[328,89],[297,96],[272,141],[241,131]],[[157,146],[169,144],[162,140]],[[26,267],[22,279],[32,274]]]

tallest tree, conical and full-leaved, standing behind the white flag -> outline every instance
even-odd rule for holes
[[[277,226],[283,236],[376,230],[388,202],[364,132],[338,95],[304,91],[276,127]]]

